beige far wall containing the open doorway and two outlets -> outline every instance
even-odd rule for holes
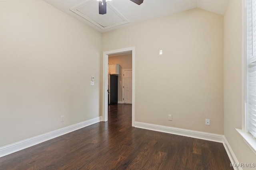
[[[102,35],[103,51],[136,48],[135,121],[224,133],[223,16],[193,9]]]

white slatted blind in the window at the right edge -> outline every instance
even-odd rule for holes
[[[256,0],[246,0],[246,130],[256,137]]]

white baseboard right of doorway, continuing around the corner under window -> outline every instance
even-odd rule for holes
[[[239,163],[236,158],[236,155],[234,154],[233,150],[231,149],[231,147],[228,144],[228,141],[224,135],[218,135],[218,134],[214,134],[214,133],[206,133],[206,132],[200,132],[200,131],[192,131],[192,130],[180,129],[180,128],[176,128],[176,127],[154,125],[154,124],[142,123],[142,122],[135,122],[135,127],[222,143],[224,145],[224,148],[225,148],[227,154],[228,154],[230,162],[232,164]],[[242,170],[242,168],[234,167],[234,170]]]

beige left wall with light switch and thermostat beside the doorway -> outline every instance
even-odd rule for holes
[[[0,25],[0,147],[99,116],[101,33],[42,0],[0,1]]]

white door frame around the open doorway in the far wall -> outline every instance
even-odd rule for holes
[[[132,126],[135,126],[135,47],[103,52],[102,121],[108,121],[108,55],[132,51]]]

